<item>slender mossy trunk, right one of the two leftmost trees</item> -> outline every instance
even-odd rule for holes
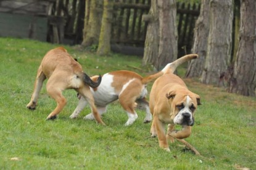
[[[99,47],[97,54],[108,55],[110,53],[111,26],[113,19],[113,0],[104,0],[104,10],[101,23],[101,34],[99,36]]]

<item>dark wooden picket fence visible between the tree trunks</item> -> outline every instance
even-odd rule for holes
[[[112,44],[144,47],[147,23],[142,21],[142,15],[148,14],[150,6],[151,0],[115,0]],[[56,2],[56,11],[60,7],[64,9],[67,18],[64,35],[66,42],[68,40],[70,44],[80,44],[83,38],[85,0],[59,0]],[[193,29],[199,13],[200,4],[177,3],[179,56],[191,50]]]

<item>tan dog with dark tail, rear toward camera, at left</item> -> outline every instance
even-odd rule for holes
[[[89,103],[97,122],[104,125],[94,106],[94,98],[89,89],[89,86],[93,88],[99,86],[101,76],[99,76],[97,82],[93,82],[93,80],[83,72],[81,65],[67,53],[65,48],[54,48],[46,53],[38,68],[33,95],[27,105],[28,109],[36,109],[39,91],[46,78],[48,79],[46,84],[47,93],[57,102],[56,109],[48,115],[47,120],[56,118],[57,114],[64,108],[67,101],[62,95],[62,91],[73,88]]]

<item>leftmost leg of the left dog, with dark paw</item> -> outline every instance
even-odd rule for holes
[[[38,73],[36,75],[36,80],[34,84],[34,91],[31,97],[30,102],[27,104],[27,108],[34,110],[36,109],[36,104],[38,102],[39,92],[43,86],[43,82],[46,79],[46,75],[44,75],[41,66],[39,66]]]

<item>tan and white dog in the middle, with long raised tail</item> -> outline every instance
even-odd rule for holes
[[[134,110],[134,102],[137,102],[142,109],[146,110],[144,123],[151,122],[152,115],[149,110],[149,102],[146,100],[147,83],[157,79],[165,72],[175,71],[176,67],[181,63],[196,58],[196,56],[197,55],[183,56],[173,63],[167,64],[162,71],[157,72],[157,74],[149,75],[148,77],[141,77],[141,75],[131,71],[114,71],[102,75],[102,81],[99,87],[91,88],[99,114],[104,114],[107,111],[107,105],[110,104],[110,102],[119,99],[120,104],[128,115],[128,120],[125,123],[125,126],[133,124],[136,118],[138,118],[138,115]],[[91,77],[91,79],[96,81],[98,78],[97,76],[94,76]],[[85,99],[80,98],[78,106],[73,114],[70,115],[70,118],[78,117],[85,106]],[[93,120],[94,115],[86,115],[85,119]]]

